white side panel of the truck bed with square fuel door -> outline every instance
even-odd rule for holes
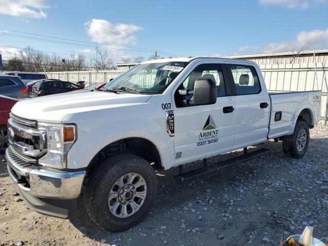
[[[271,100],[268,138],[293,134],[297,117],[303,109],[310,111],[313,126],[319,121],[321,91],[268,91],[268,93]],[[281,119],[276,121],[277,112],[281,112]]]

